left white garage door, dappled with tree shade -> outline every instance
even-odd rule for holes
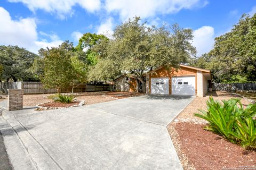
[[[151,94],[169,95],[169,78],[151,78]]]

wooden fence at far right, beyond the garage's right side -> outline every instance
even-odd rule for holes
[[[256,92],[256,83],[214,83],[212,90],[215,91],[239,91],[239,92]]]

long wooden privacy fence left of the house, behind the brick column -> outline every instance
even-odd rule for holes
[[[51,94],[56,93],[56,89],[45,89],[41,82],[9,82],[9,86],[4,86],[5,90],[1,90],[7,94],[7,89],[24,89],[24,94]],[[19,86],[15,85],[19,84]],[[2,86],[1,86],[2,87]],[[6,88],[7,87],[7,88]],[[79,84],[74,86],[73,92],[86,91],[111,91],[113,85],[111,84]],[[60,89],[60,92],[71,92],[72,86]]]

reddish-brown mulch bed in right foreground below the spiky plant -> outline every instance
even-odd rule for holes
[[[172,123],[181,152],[196,169],[256,169],[256,151],[248,151],[191,122]],[[170,128],[169,128],[170,129]],[[179,153],[179,151],[178,151]],[[244,167],[246,166],[246,167]]]

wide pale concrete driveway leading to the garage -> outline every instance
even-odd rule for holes
[[[182,169],[166,125],[193,98],[140,96],[4,111],[0,130],[14,169]]]

